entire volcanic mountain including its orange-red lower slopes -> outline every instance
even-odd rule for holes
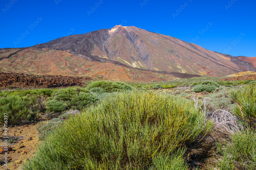
[[[0,71],[151,82],[256,71],[255,57],[234,57],[196,44],[116,25],[24,48],[0,49]]]

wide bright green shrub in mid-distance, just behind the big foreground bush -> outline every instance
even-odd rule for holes
[[[134,88],[131,85],[122,82],[110,82],[110,81],[99,81],[93,82],[88,85],[88,89],[91,90],[94,87],[100,87],[105,90],[107,93],[115,92],[115,91],[127,91],[133,90]]]

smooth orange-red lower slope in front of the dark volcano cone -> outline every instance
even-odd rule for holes
[[[13,54],[13,55],[10,55]],[[173,76],[129,69],[113,63],[93,62],[65,51],[43,48],[2,49],[0,72],[35,75],[89,76],[123,82],[173,80]],[[1,57],[0,56],[0,57]]]

